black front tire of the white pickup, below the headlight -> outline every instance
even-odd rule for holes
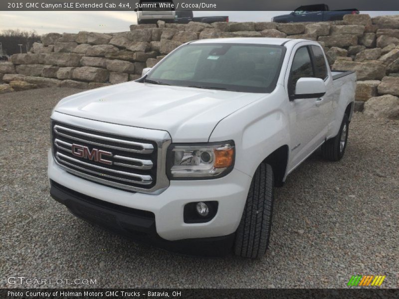
[[[261,163],[249,187],[241,222],[235,232],[234,253],[261,258],[269,245],[274,201],[274,176],[269,164]]]

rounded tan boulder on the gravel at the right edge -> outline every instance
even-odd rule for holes
[[[373,97],[365,103],[363,112],[367,116],[399,119],[399,98],[393,95]]]

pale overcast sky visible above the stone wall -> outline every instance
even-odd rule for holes
[[[195,11],[195,16],[228,15],[230,21],[270,21],[271,17],[287,11]],[[361,11],[372,16],[399,14],[399,11]],[[0,11],[0,31],[4,29],[48,32],[129,31],[137,23],[134,11]]]

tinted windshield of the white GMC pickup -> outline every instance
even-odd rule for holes
[[[163,59],[143,81],[270,93],[276,86],[284,53],[284,47],[275,45],[188,44]]]

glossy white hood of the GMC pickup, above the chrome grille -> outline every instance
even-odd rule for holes
[[[174,142],[207,142],[217,123],[264,94],[126,82],[62,99],[54,111],[168,131]]]

